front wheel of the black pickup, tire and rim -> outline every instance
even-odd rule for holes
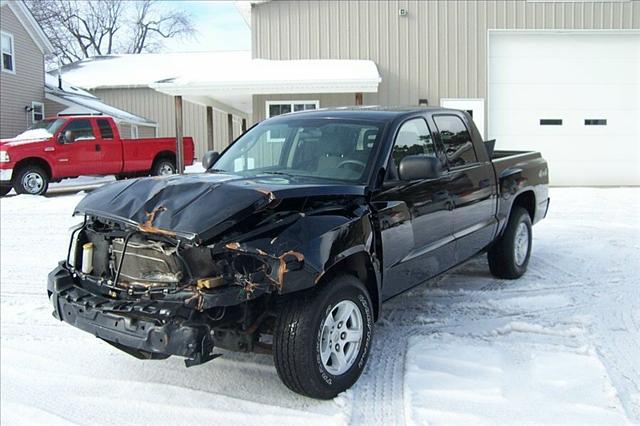
[[[294,392],[329,399],[348,389],[367,362],[373,308],[355,277],[337,277],[289,301],[279,314],[273,357]]]

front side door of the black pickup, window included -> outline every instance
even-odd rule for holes
[[[373,199],[384,254],[383,299],[420,284],[454,262],[448,177],[401,181],[398,166],[407,155],[439,157],[424,118],[409,119],[399,127],[384,188]]]

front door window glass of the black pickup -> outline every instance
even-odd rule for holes
[[[431,132],[427,122],[422,118],[408,120],[400,127],[389,159],[387,179],[399,179],[398,167],[402,159],[408,155],[427,155],[437,158]]]

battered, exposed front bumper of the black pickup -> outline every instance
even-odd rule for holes
[[[137,358],[178,355],[189,359],[188,366],[213,358],[211,329],[185,319],[179,304],[95,295],[76,286],[62,265],[49,273],[47,290],[54,317]]]

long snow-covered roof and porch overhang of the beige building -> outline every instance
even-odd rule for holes
[[[369,60],[253,59],[249,51],[98,56],[62,73],[85,89],[151,87],[240,114],[251,113],[252,95],[377,92],[381,81]]]

